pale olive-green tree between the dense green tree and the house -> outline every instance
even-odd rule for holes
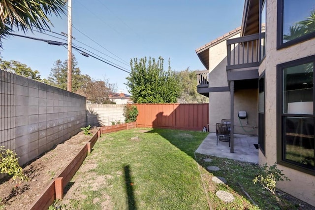
[[[181,94],[178,97],[179,103],[188,104],[208,102],[207,97],[197,92],[196,72],[196,70],[189,70],[189,68],[175,72],[177,81],[181,87]]]

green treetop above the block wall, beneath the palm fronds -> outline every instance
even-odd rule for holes
[[[25,76],[30,79],[41,80],[38,70],[32,70],[26,64],[21,64],[18,61],[4,61],[0,58],[0,69]]]

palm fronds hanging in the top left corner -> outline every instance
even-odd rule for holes
[[[61,16],[66,0],[0,0],[0,40],[17,31],[50,29],[47,15]],[[0,45],[1,46],[1,45]]]

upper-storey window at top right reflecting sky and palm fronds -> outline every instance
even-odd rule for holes
[[[278,0],[277,48],[315,36],[314,0]]]

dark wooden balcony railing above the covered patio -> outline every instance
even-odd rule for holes
[[[226,70],[258,67],[265,55],[265,33],[228,39]]]

